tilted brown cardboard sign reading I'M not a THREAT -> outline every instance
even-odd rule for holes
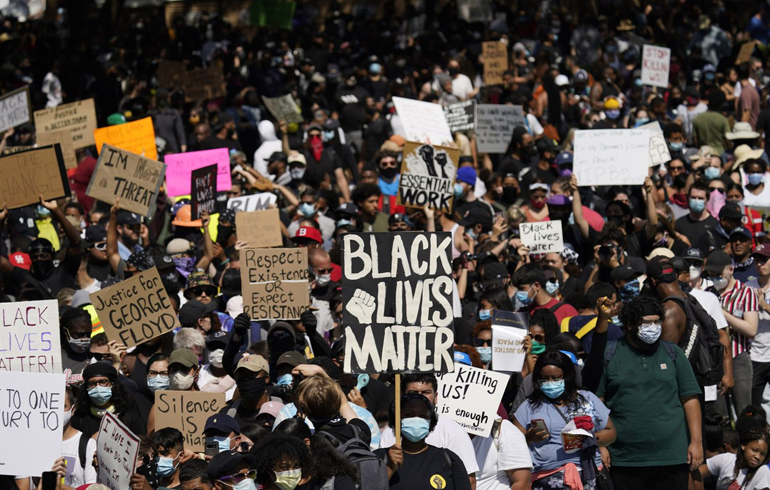
[[[105,144],[99,153],[86,195],[142,216],[155,211],[166,165]]]

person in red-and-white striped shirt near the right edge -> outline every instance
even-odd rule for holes
[[[730,351],[733,358],[735,386],[731,400],[736,411],[751,403],[751,339],[757,334],[759,325],[759,303],[753,289],[745,286],[733,276],[733,259],[722,250],[716,250],[706,259],[704,274],[714,282],[719,292],[727,324],[730,326],[732,342]],[[728,407],[717,404],[718,414],[727,416]]]

